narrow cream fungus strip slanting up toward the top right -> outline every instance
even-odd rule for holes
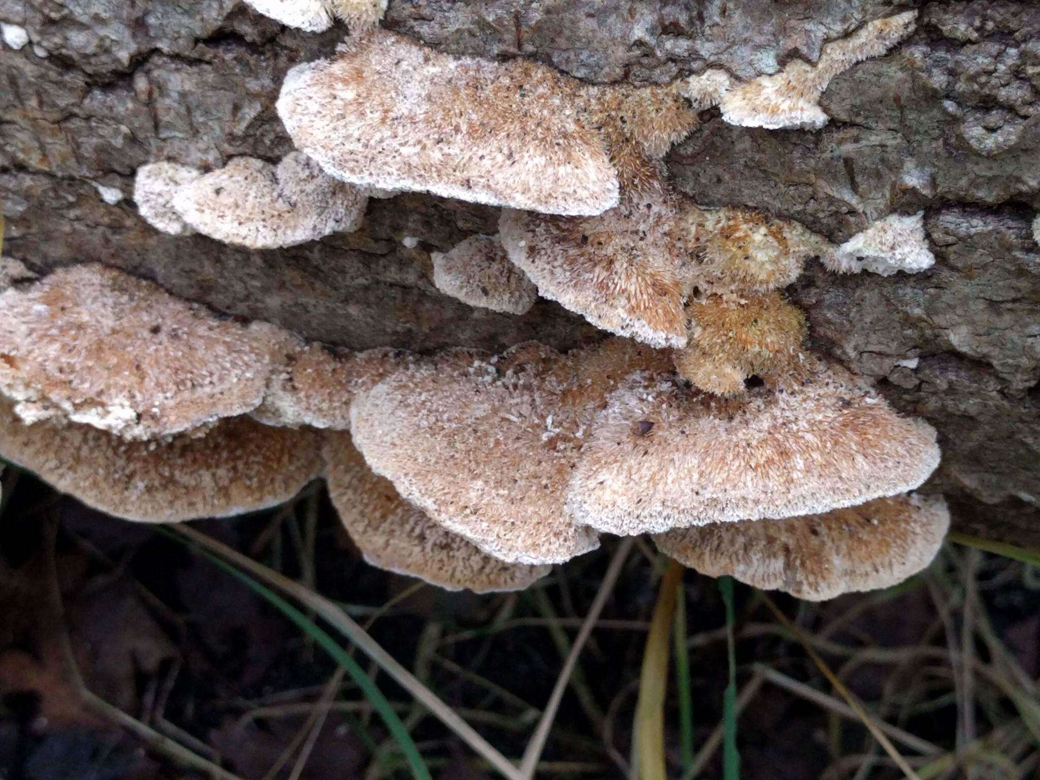
[[[780,73],[759,76],[722,96],[722,118],[731,125],[818,130],[829,121],[820,98],[831,79],[857,62],[877,57],[914,30],[917,11],[877,19],[827,44],[815,66],[792,60]]]

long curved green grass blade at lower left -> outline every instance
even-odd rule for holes
[[[260,584],[260,582],[253,579],[253,577],[249,574],[239,571],[231,564],[220,561],[220,558],[206,552],[205,550],[201,550],[201,552],[216,566],[224,569],[233,577],[246,584],[259,596],[266,599],[280,613],[292,621],[297,628],[310,636],[315,644],[318,645],[318,647],[329,653],[329,655],[331,655],[337,664],[342,666],[343,669],[346,670],[346,673],[350,675],[350,678],[355,681],[355,683],[357,683],[358,687],[361,688],[365,698],[368,699],[372,708],[375,709],[380,718],[383,719],[383,722],[390,730],[390,734],[396,740],[397,745],[400,747],[401,753],[404,753],[406,759],[408,760],[409,766],[412,770],[412,776],[415,777],[416,780],[431,780],[430,770],[426,769],[426,764],[423,762],[422,756],[419,755],[419,750],[415,747],[415,743],[412,742],[412,736],[408,733],[408,729],[405,728],[405,724],[401,723],[400,718],[397,717],[397,713],[393,711],[393,707],[390,706],[390,702],[388,702],[386,697],[383,696],[383,693],[379,690],[379,687],[376,687],[375,683],[372,682],[371,678],[365,674],[365,670],[361,668],[358,661],[352,658],[331,635],[315,625],[313,621],[308,620],[306,615],[281,596],[267,590],[264,586]]]

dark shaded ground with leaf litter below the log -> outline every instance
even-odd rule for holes
[[[81,684],[244,780],[408,776],[382,722],[329,656],[182,542],[85,510],[17,471],[4,476],[3,500],[0,778],[205,776],[131,733],[129,721],[116,725],[113,710],[84,700]],[[519,757],[616,544],[525,593],[447,594],[364,564],[326,500],[315,487],[283,510],[194,526],[371,621],[387,650],[498,750]],[[639,543],[626,560],[538,777],[626,775],[662,566]],[[700,751],[723,714],[725,617],[714,580],[687,572],[684,583],[688,736]],[[776,601],[879,719],[912,735],[892,740],[921,778],[1011,778],[1035,775],[1040,762],[1040,718],[1031,709],[1038,588],[1036,570],[947,545],[926,575],[898,589],[824,604]],[[839,697],[805,649],[743,586],[734,628],[747,700],[737,733],[743,777],[900,776],[855,718],[835,712]],[[375,679],[434,777],[495,777],[386,675]],[[669,777],[677,778],[683,734],[674,678],[668,691]],[[807,698],[813,692],[823,698]],[[322,698],[331,702],[323,721]],[[948,754],[958,748],[961,768]],[[719,751],[705,758],[701,776],[721,777]]]

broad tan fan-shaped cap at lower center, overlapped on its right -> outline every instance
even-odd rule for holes
[[[598,546],[564,511],[568,475],[603,398],[668,356],[612,339],[564,356],[523,344],[453,350],[392,373],[350,410],[372,469],[435,521],[510,563],[562,563]]]

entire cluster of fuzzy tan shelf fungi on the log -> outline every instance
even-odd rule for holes
[[[251,512],[321,478],[368,562],[447,589],[525,588],[602,534],[652,534],[702,572],[807,599],[928,565],[948,513],[911,491],[938,464],[935,431],[809,353],[783,295],[811,258],[927,269],[924,214],[833,245],[700,205],[662,164],[717,105],[735,124],[822,127],[829,81],[903,41],[914,11],[815,64],[635,87],[364,29],[381,0],[248,1],[311,31],[339,16],[352,35],[286,76],[277,109],[298,151],[146,165],[148,223],[278,249],[355,231],[368,198],[398,191],[500,206],[497,235],[433,254],[436,286],[518,316],[542,295],[612,335],[568,353],[355,353],[100,265],[7,263],[0,454],[148,522]]]

